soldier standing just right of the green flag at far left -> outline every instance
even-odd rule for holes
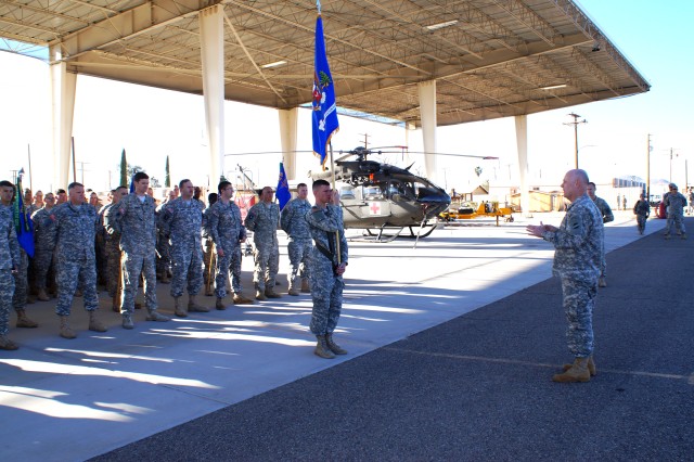
[[[31,216],[34,221],[34,268],[36,269],[36,284],[38,299],[48,301],[47,293],[48,274],[55,273],[55,223],[51,220],[51,214],[55,206],[55,196],[52,192],[46,194],[46,205],[36,210]],[[51,286],[54,284],[50,284]]]

